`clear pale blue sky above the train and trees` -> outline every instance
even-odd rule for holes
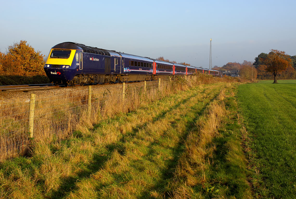
[[[209,67],[296,55],[296,1],[0,1],[0,51],[26,40],[46,56],[65,41]]]

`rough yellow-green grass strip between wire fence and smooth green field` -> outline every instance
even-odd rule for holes
[[[0,198],[252,198],[237,83],[117,114],[0,164]]]

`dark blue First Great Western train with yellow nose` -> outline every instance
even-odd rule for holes
[[[165,79],[170,75],[192,75],[195,72],[221,76],[218,70],[176,64],[74,42],[53,46],[44,71],[50,82],[65,86],[149,81]]]

